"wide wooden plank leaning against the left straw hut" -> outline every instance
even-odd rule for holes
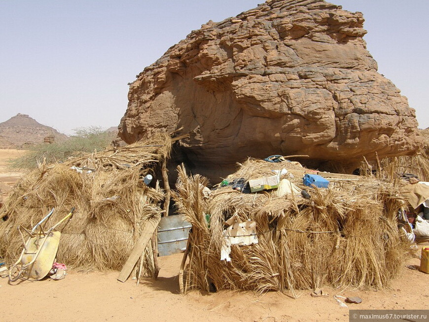
[[[131,250],[131,254],[125,262],[124,267],[122,267],[121,272],[117,278],[118,281],[125,282],[131,274],[134,266],[139,260],[140,256],[143,253],[143,250],[146,248],[147,243],[152,238],[153,232],[156,227],[158,227],[159,221],[161,220],[161,216],[157,216],[155,218],[149,219],[146,221],[145,226],[143,227],[142,235],[137,241],[136,245],[134,245],[133,250]]]

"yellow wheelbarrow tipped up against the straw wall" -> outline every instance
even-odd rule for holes
[[[74,207],[70,213],[53,225],[47,231],[41,227],[41,223],[52,215],[54,209],[46,215],[32,230],[18,226],[18,231],[24,244],[24,249],[21,256],[9,269],[9,281],[15,282],[18,279],[38,281],[48,275],[52,269],[55,256],[57,255],[58,245],[60,243],[61,232],[55,231],[60,224],[69,219],[73,215]],[[38,231],[36,229],[38,228]],[[30,235],[30,238],[25,242],[22,230]]]

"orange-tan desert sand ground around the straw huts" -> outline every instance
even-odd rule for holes
[[[4,160],[22,153],[0,150],[0,181],[11,186],[21,175],[4,168]],[[6,182],[6,183],[4,183]],[[420,246],[429,246],[428,243]],[[420,264],[420,250],[407,265]],[[310,290],[291,294],[267,292],[191,291],[179,294],[181,254],[159,257],[157,281],[116,280],[118,272],[69,271],[66,279],[23,281],[10,285],[0,279],[0,321],[349,321],[349,309],[429,309],[429,274],[407,268],[384,290],[324,288],[328,297]],[[66,263],[67,264],[67,263]],[[359,296],[360,304],[341,308],[333,295]]]

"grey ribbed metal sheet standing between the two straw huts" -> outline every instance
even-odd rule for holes
[[[186,249],[189,230],[192,225],[182,215],[162,217],[158,225],[158,252],[167,256]]]

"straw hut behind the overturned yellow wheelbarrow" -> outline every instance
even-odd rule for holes
[[[76,207],[64,227],[57,261],[86,269],[121,269],[146,220],[161,215],[158,204],[164,191],[159,184],[146,186],[143,177],[153,174],[170,148],[170,137],[159,135],[49,167],[40,164],[15,185],[1,209],[0,218],[7,220],[0,220],[0,256],[7,262],[18,258],[23,248],[18,225],[31,228],[55,207],[43,223],[49,228]],[[151,275],[151,243],[143,257],[144,271]]]

